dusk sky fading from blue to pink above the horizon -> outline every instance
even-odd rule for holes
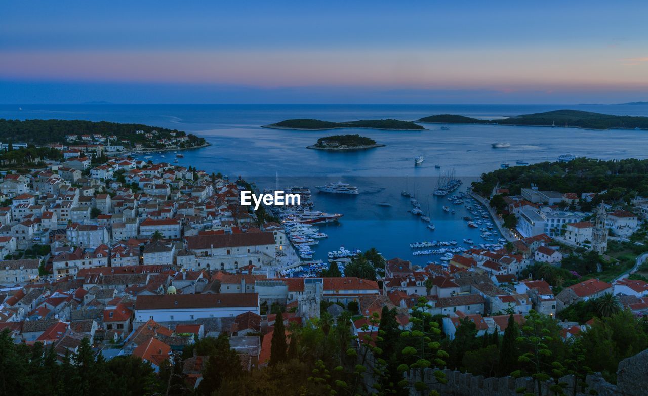
[[[646,1],[3,1],[0,103],[648,100]]]

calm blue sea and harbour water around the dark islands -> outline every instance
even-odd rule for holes
[[[648,105],[0,105],[0,118],[90,120],[146,124],[194,133],[211,146],[183,151],[179,164],[195,166],[230,179],[243,177],[259,188],[308,186],[315,209],[342,214],[340,221],[319,226],[329,237],[314,248],[315,259],[327,259],[327,252],[367,250],[375,247],[388,259],[409,259],[424,265],[439,256],[415,256],[410,243],[457,241],[483,243],[481,231],[469,228],[462,217],[470,214],[463,205],[432,195],[439,181],[461,179],[457,193],[502,162],[516,166],[554,161],[562,154],[603,160],[648,158],[648,131],[594,131],[557,126],[521,127],[496,125],[421,124],[424,131],[378,131],[336,129],[334,131],[290,131],[261,126],[289,118],[351,121],[378,118],[418,120],[437,114],[457,114],[495,119],[557,109],[594,111],[612,115],[648,116]],[[321,151],[307,149],[318,138],[358,133],[386,146],[364,151]],[[511,147],[492,148],[494,142]],[[171,162],[173,153],[152,155],[156,162]],[[424,156],[415,166],[414,157]],[[357,186],[358,195],[318,193],[316,186],[328,182]],[[432,219],[435,230],[410,213],[407,191]],[[388,206],[389,205],[389,206]],[[446,212],[443,206],[455,210]],[[495,236],[497,239],[500,236]]]

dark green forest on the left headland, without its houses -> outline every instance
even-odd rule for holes
[[[144,133],[136,133],[144,131]],[[157,131],[157,132],[156,132]],[[66,143],[67,135],[93,135],[100,134],[104,137],[115,135],[117,141],[111,144],[126,144],[121,140],[128,140],[129,144],[141,143],[146,147],[157,146],[156,140],[187,137],[181,144],[184,148],[202,146],[205,139],[191,133],[143,124],[119,124],[116,122],[91,122],[84,120],[5,120],[0,119],[0,142],[25,142],[34,146],[43,146],[49,143]],[[146,133],[153,133],[154,138],[146,137]],[[73,142],[69,142],[73,143]]]

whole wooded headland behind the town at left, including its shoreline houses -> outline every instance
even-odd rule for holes
[[[95,136],[96,135],[96,136]],[[5,120],[0,119],[0,142],[47,144],[110,144],[129,149],[174,149],[209,146],[205,138],[177,129],[143,124],[92,122],[84,120]]]

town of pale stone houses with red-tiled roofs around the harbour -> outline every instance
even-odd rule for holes
[[[648,198],[600,201],[590,211],[586,203],[605,191],[578,196],[535,185],[519,194],[496,188],[478,198],[507,236],[503,248],[469,247],[447,263],[425,266],[354,252],[331,259],[315,276],[286,277],[285,269],[306,262],[295,250],[299,241],[291,241],[270,208],[256,200],[256,207],[242,204],[249,182],[136,160],[91,138],[97,143],[52,145],[62,159],[5,172],[0,182],[0,330],[16,346],[50,348],[60,364],[81,353],[102,362],[134,357],[154,376],[171,382],[169,371],[179,371],[178,386],[211,394],[223,386],[205,377],[214,375],[209,362],[216,355],[238,357],[240,369],[253,373],[306,353],[313,347],[308,331],[325,337],[334,324],[345,340],[342,353],[348,346],[362,356],[341,358],[342,371],[349,362],[373,366],[382,369],[383,381],[405,379],[389,377],[393,388],[445,394],[454,370],[488,378],[524,369],[515,354],[527,354],[522,346],[510,349],[511,337],[530,339],[537,327],[529,322],[553,329],[562,345],[552,348],[569,355],[579,343],[596,344],[592,329],[608,331],[614,321],[648,315],[647,254],[639,254],[647,243]],[[338,267],[342,261],[346,268]],[[647,347],[646,333],[634,331],[637,352]],[[403,351],[428,364],[412,363],[396,374],[392,360],[400,351],[381,363],[388,336],[416,338],[417,332],[435,335],[445,351],[410,345]],[[206,347],[223,339],[225,349]],[[621,386],[616,366],[633,353],[613,347],[619,353],[612,360],[590,361],[586,371],[534,378],[557,383],[572,374],[582,377],[578,388],[602,391],[617,380]],[[327,362],[325,351],[312,353],[322,355],[312,364]],[[417,380],[424,377],[419,369],[441,374]],[[594,372],[604,375],[586,381]],[[343,382],[327,389],[350,386],[353,372],[343,374],[337,380]]]

